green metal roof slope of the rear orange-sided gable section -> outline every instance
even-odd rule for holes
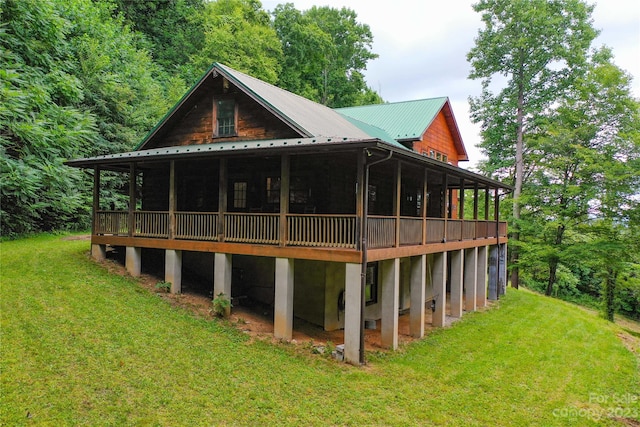
[[[340,114],[375,124],[396,140],[418,139],[436,118],[447,97],[337,108]]]

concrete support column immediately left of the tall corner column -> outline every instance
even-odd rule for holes
[[[273,336],[290,341],[293,337],[293,259],[276,258],[276,295]]]

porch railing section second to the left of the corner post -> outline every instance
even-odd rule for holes
[[[224,240],[227,242],[278,244],[280,215],[226,213],[224,231]]]

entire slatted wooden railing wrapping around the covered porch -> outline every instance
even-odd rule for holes
[[[176,212],[174,235],[182,240],[255,243],[300,247],[356,249],[359,242],[358,220],[355,215],[298,215],[286,216],[286,237],[280,235],[280,214],[225,213],[224,228],[220,229],[216,212]],[[130,234],[127,211],[97,211],[95,234],[169,238],[170,215],[166,211],[135,211],[134,229]],[[456,220],[444,218],[370,216],[367,242],[371,249],[422,244],[455,242],[473,239],[506,237],[505,222]],[[426,228],[426,229],[425,229]],[[399,230],[396,240],[396,230]],[[446,233],[445,233],[446,232]]]

